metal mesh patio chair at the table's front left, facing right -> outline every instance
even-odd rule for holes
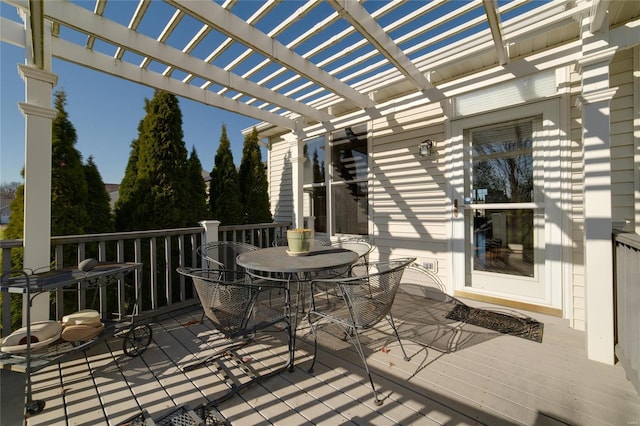
[[[178,268],[177,271],[193,280],[205,316],[224,336],[224,346],[221,349],[204,359],[186,364],[182,370],[189,371],[199,365],[217,362],[227,357],[241,366],[240,369],[250,378],[248,381],[230,383],[230,392],[216,399],[217,402],[227,399],[251,383],[273,376],[289,367],[290,360],[280,368],[258,375],[249,363],[243,362],[242,357],[236,354],[236,350],[251,343],[257,333],[270,327],[276,331],[287,332],[289,353],[291,352],[288,298],[284,300],[284,306],[276,307],[271,302],[270,294],[272,291],[288,294],[284,291],[284,283],[254,280],[244,271],[202,268]],[[284,324],[284,327],[272,327],[278,323]]]

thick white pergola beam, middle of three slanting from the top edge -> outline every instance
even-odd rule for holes
[[[288,69],[300,73],[309,80],[316,82],[334,93],[340,94],[340,96],[356,103],[356,105],[362,108],[373,106],[373,102],[368,96],[363,95],[351,86],[344,84],[339,79],[324,72],[312,62],[297,55],[291,51],[291,49],[288,49],[262,31],[247,24],[244,20],[216,3],[182,0],[166,1],[172,6],[193,16],[194,19],[211,25],[228,37],[232,37],[240,43],[250,46],[256,52],[272,58],[275,62],[284,65]]]

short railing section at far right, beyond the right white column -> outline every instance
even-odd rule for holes
[[[640,235],[614,236],[616,356],[640,394]]]

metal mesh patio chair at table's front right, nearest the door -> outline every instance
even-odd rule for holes
[[[311,282],[312,297],[308,319],[314,339],[314,350],[313,361],[309,368],[310,373],[313,372],[318,354],[318,326],[322,322],[336,324],[344,332],[345,340],[348,338],[358,355],[360,355],[373,389],[374,402],[377,405],[382,404],[371,378],[359,332],[370,329],[384,318],[387,318],[400,344],[404,359],[409,359],[393,321],[391,305],[400,286],[404,269],[414,261],[415,258],[402,258],[376,262],[370,265],[370,272],[363,276],[316,279]],[[342,300],[335,303],[316,305],[314,289],[317,288],[318,284],[326,287],[333,286],[335,292],[339,295],[338,298]]]

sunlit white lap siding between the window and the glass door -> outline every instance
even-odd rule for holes
[[[438,104],[415,106],[374,120],[372,127],[369,202],[377,247],[372,257],[415,256],[420,264],[437,260],[438,275],[448,282],[442,109]],[[426,139],[436,143],[430,158],[418,153]]]

